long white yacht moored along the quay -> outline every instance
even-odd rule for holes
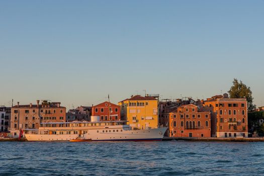
[[[41,123],[38,130],[25,130],[28,141],[69,141],[82,137],[92,141],[159,141],[167,128],[132,130],[128,121],[73,121]],[[56,126],[56,127],[55,127]]]

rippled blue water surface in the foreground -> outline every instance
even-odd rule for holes
[[[264,175],[264,143],[0,142],[0,175]]]

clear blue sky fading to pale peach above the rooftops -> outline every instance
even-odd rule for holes
[[[0,1],[0,105],[207,98],[264,106],[264,1]]]

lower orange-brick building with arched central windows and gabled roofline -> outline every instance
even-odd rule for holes
[[[211,112],[193,104],[169,113],[169,137],[211,137]]]

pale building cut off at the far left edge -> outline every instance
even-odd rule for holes
[[[0,133],[9,132],[11,108],[0,107]]]

